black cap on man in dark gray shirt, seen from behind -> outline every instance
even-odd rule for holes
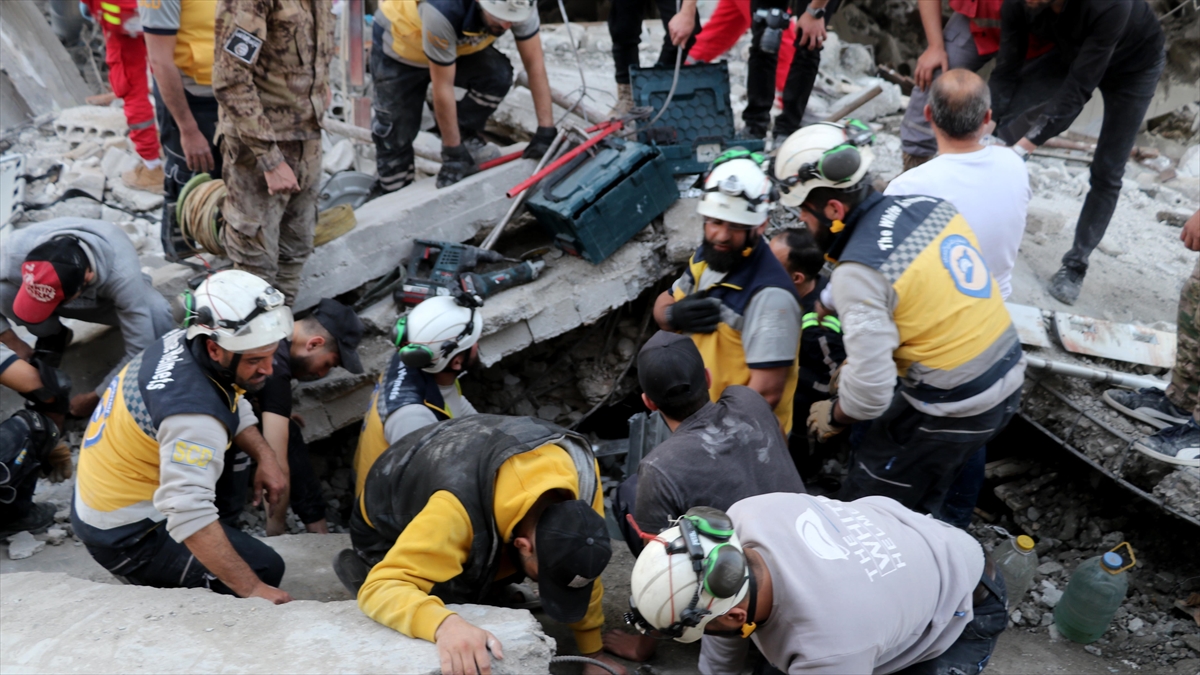
[[[676,406],[708,392],[704,359],[691,338],[659,330],[637,353],[637,382],[654,405]]]

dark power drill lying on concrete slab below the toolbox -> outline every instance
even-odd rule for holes
[[[511,286],[533,281],[545,267],[545,263],[538,261],[486,274],[468,271],[480,263],[499,262],[517,261],[467,244],[416,239],[408,257],[408,274],[392,298],[397,305],[414,306],[426,298],[450,295],[460,288],[486,298]]]

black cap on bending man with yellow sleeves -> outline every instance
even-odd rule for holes
[[[582,620],[592,586],[612,557],[604,516],[583,500],[558,502],[538,519],[536,538],[542,609],[563,623]]]

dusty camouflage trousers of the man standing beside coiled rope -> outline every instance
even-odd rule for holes
[[[221,238],[235,269],[278,288],[290,306],[300,291],[300,271],[312,252],[317,228],[320,139],[280,141],[283,160],[295,173],[299,192],[271,195],[257,157],[238,138],[221,139],[222,171],[229,193],[221,209]]]

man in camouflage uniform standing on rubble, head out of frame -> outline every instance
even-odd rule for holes
[[[300,289],[312,252],[320,118],[334,56],[325,0],[218,0],[212,90],[228,189],[222,239],[234,267]]]

